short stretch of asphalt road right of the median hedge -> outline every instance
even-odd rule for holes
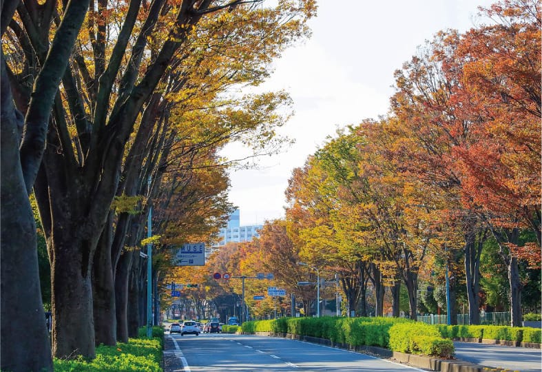
[[[541,349],[454,342],[455,358],[467,362],[521,372],[542,371]]]

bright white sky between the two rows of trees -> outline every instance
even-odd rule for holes
[[[320,0],[309,21],[311,39],[284,52],[265,90],[284,89],[295,115],[280,130],[295,138],[282,154],[260,159],[260,169],[232,171],[229,200],[240,225],[284,216],[284,191],[295,167],[338,127],[388,112],[393,72],[439,30],[479,25],[477,6],[489,0]],[[238,147],[224,154],[238,155]]]

